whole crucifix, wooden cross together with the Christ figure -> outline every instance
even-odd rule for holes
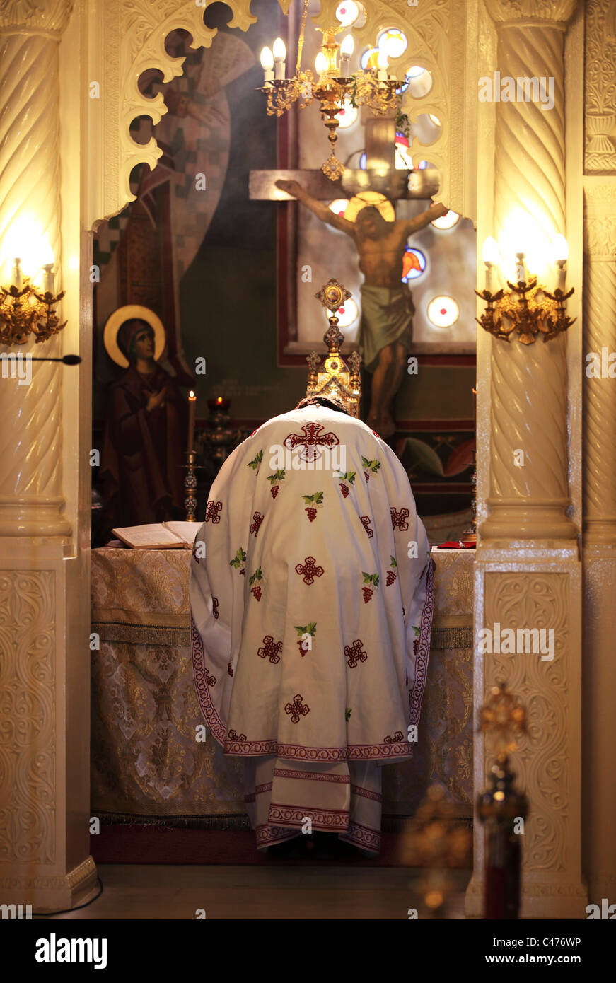
[[[400,170],[395,166],[395,115],[373,116],[363,109],[365,170],[345,169],[331,181],[320,170],[251,171],[251,199],[302,202],[322,222],[353,239],[358,250],[362,284],[359,341],[364,366],[372,374],[366,423],[383,438],[395,433],[391,404],[407,370],[414,313],[409,288],[402,283],[403,257],[410,235],[447,212],[432,204],[415,218],[386,221],[381,202],[365,204],[355,221],[335,214],[324,202],[379,192],[391,210],[401,199],[429,199],[438,190],[435,169]]]

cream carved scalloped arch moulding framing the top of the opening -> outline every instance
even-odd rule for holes
[[[251,0],[226,2],[233,15],[229,26],[248,30],[256,21]],[[279,0],[284,14],[292,3],[299,2]],[[134,201],[130,176],[136,165],[144,162],[150,168],[156,166],[162,151],[155,140],[152,138],[146,145],[135,143],[130,127],[136,117],[143,115],[150,116],[156,124],[167,109],[161,93],[153,98],[140,93],[139,78],[146,69],[159,69],[165,83],[182,75],[184,58],[174,58],[165,49],[165,38],[172,30],[189,31],[194,48],[211,45],[216,30],[203,24],[205,6],[205,0],[105,0],[104,4],[90,5],[89,16],[95,22],[98,41],[90,57],[89,82],[99,83],[99,97],[88,99],[91,170],[87,228],[96,228],[100,221]],[[321,0],[312,24],[335,23],[336,6],[336,0]],[[414,99],[407,94],[403,110],[412,119],[419,113],[434,113],[441,122],[441,134],[429,149],[416,144],[414,158],[419,162],[429,155],[430,162],[441,172],[440,199],[475,221],[476,146],[465,148],[463,141],[465,131],[474,132],[468,120],[464,126],[465,18],[456,16],[454,0],[421,0],[417,8],[410,8],[407,0],[370,0],[365,6],[364,26],[353,30],[356,40],[367,44],[381,29],[403,29],[413,59],[431,73],[432,87],[427,95]],[[409,67],[408,57],[391,62],[400,77]]]

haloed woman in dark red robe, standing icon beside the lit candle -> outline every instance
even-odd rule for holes
[[[126,371],[111,386],[101,461],[107,529],[183,518],[188,410],[173,376],[158,365],[165,329],[137,304],[115,311],[103,334]]]

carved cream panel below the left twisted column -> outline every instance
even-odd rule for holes
[[[56,858],[53,570],[0,571],[0,859]]]

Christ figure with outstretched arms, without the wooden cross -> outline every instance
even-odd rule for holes
[[[445,215],[447,208],[435,203],[415,218],[388,222],[376,207],[365,205],[350,222],[308,195],[297,181],[279,180],[276,187],[303,202],[322,222],[346,232],[357,246],[364,273],[360,346],[372,374],[367,424],[382,437],[391,436],[395,425],[390,406],[407,367],[415,313],[411,291],[401,282],[404,246],[410,235]]]

